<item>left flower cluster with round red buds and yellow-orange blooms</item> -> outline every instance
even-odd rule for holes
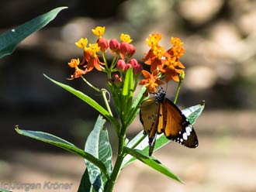
[[[92,29],[92,33],[98,37],[96,43],[88,43],[87,38],[81,38],[75,43],[76,46],[84,51],[84,58],[81,63],[79,59],[72,59],[68,63],[70,67],[74,68],[74,74],[71,75],[70,80],[81,77],[81,75],[87,74],[94,68],[106,72],[110,80],[122,81],[119,75],[118,77],[116,74],[112,76],[112,73],[119,71],[122,76],[130,67],[133,68],[133,74],[141,74],[143,67],[135,58],[132,58],[135,53],[135,47],[130,44],[133,39],[129,35],[122,33],[120,36],[121,42],[119,43],[117,39],[110,39],[108,41],[108,39],[103,37],[105,27],[97,26],[95,29]],[[110,65],[106,60],[106,51],[108,49],[113,54],[113,60]],[[104,62],[99,60],[99,52],[102,53]],[[79,65],[82,67],[78,67]]]

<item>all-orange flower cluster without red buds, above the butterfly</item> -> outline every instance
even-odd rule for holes
[[[168,82],[171,79],[180,81],[181,75],[184,76],[185,67],[180,61],[185,49],[182,48],[182,41],[178,37],[171,37],[172,47],[169,50],[164,50],[163,46],[159,45],[161,34],[152,33],[146,39],[147,45],[150,50],[145,54],[142,59],[145,64],[150,65],[151,74],[143,70],[142,74],[145,79],[140,81],[147,87],[149,93],[155,93],[158,85],[164,84],[161,77],[165,77]]]

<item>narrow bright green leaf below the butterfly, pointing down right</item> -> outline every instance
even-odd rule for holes
[[[158,172],[163,173],[164,175],[182,183],[182,180],[180,180],[174,173],[172,173],[171,170],[168,169],[168,167],[164,166],[153,156],[148,156],[148,153],[140,151],[138,149],[130,149],[128,147],[124,147],[123,149],[126,153],[130,154],[131,156],[134,156],[136,159],[139,159],[147,166],[150,166],[154,170],[157,170]]]

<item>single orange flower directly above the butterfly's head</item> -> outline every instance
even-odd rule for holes
[[[145,79],[140,81],[140,84],[144,84],[147,87],[147,92],[150,94],[156,93],[156,87],[158,85],[164,84],[163,81],[157,79],[158,71],[154,70],[152,74],[150,74],[147,70],[142,70],[142,74]]]

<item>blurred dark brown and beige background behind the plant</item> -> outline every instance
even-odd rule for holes
[[[85,170],[83,159],[17,135],[14,125],[50,132],[84,147],[97,112],[43,74],[102,103],[100,95],[81,80],[66,78],[73,73],[67,62],[82,58],[74,42],[81,37],[94,42],[91,29],[106,26],[108,39],[130,34],[138,60],[148,50],[148,34],[161,33],[165,48],[171,36],[180,37],[186,77],[178,105],[185,108],[206,101],[205,111],[195,123],[199,147],[187,149],[171,142],[154,153],[185,185],[137,161],[123,170],[115,191],[256,191],[256,1],[12,0],[0,5],[0,33],[50,9],[69,7],[0,60],[0,183],[50,180],[74,183],[71,191],[77,190]],[[106,87],[107,79],[99,72],[86,78]],[[169,84],[168,98],[174,96],[174,90],[175,84]],[[110,125],[106,127],[115,153],[115,135]],[[141,129],[137,118],[129,137]]]

